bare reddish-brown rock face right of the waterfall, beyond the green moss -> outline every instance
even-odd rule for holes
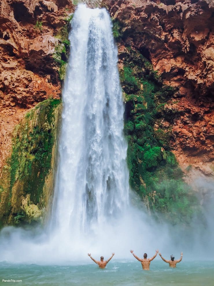
[[[163,83],[177,88],[165,105],[172,121],[163,119],[156,127],[172,129],[170,146],[182,169],[191,165],[211,175],[214,2],[104,0],[102,5],[121,27],[119,46],[141,52],[161,74]]]

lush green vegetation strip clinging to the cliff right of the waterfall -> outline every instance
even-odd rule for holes
[[[164,106],[175,90],[162,84],[141,54],[131,49],[128,53],[121,84],[126,93],[124,133],[128,140],[130,186],[154,214],[164,213],[174,224],[188,223],[196,198],[183,181],[183,173],[170,151],[170,127],[154,128],[161,119],[170,126],[176,114],[167,114]]]

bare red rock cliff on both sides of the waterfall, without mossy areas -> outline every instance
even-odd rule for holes
[[[102,3],[123,25],[119,46],[139,50],[150,59],[164,83],[178,88],[165,110],[177,114],[171,126],[171,147],[183,169],[192,165],[211,174],[214,1]],[[0,3],[0,170],[11,150],[12,130],[25,112],[37,102],[61,94],[53,59],[58,44],[54,36],[73,10],[69,0]],[[169,128],[164,119],[161,128]]]

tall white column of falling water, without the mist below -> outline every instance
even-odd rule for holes
[[[74,235],[121,213],[129,184],[117,48],[107,11],[79,5],[69,40],[51,228]]]

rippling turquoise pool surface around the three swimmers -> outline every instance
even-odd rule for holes
[[[1,263],[0,285],[214,285],[214,261],[181,262],[176,269],[169,268],[167,263],[153,261],[150,271],[143,271],[136,261],[112,260],[107,266],[99,269],[94,263],[63,266]],[[2,279],[22,282],[5,283]]]

